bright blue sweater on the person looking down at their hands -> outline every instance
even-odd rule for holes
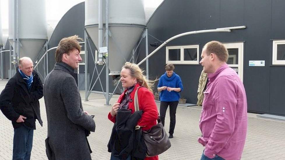
[[[171,88],[180,88],[181,91],[183,90],[182,81],[178,76],[178,74],[175,74],[175,72],[173,72],[171,77],[167,77],[166,72],[163,75],[161,75],[157,87],[162,87],[162,86],[167,86]],[[169,92],[167,90],[162,90],[160,92],[159,98],[160,101],[165,101],[165,102],[179,101],[180,94],[179,92],[176,91]]]

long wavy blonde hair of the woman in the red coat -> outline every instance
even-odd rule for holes
[[[152,92],[152,86],[154,81],[147,80],[145,75],[143,75],[144,71],[141,70],[137,64],[126,62],[122,69],[124,68],[129,69],[131,71],[131,77],[135,77],[140,86],[143,86],[147,88],[150,92]]]

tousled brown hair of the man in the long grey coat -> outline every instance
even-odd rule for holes
[[[57,46],[57,50],[55,51],[55,61],[62,62],[62,55],[69,55],[70,51],[74,49],[77,49],[80,52],[81,47],[79,45],[79,40],[83,39],[79,38],[78,35],[62,38]]]

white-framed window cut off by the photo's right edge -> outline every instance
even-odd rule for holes
[[[272,65],[285,65],[285,40],[273,41]]]

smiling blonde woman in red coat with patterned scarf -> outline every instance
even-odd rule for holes
[[[156,120],[158,117],[158,111],[151,89],[152,84],[145,78],[143,71],[138,65],[129,62],[126,62],[122,67],[120,80],[126,90],[121,94],[117,103],[112,106],[108,114],[109,120],[115,123],[117,111],[121,108],[129,109],[133,113],[135,111],[134,96],[136,89],[139,86],[143,86],[138,90],[139,108],[143,111],[143,115],[141,119],[138,120],[137,125],[142,126],[143,131],[149,130],[152,126],[157,124]],[[118,158],[111,156],[111,160],[112,159]],[[155,157],[146,157],[145,160],[158,160],[158,155]]]

